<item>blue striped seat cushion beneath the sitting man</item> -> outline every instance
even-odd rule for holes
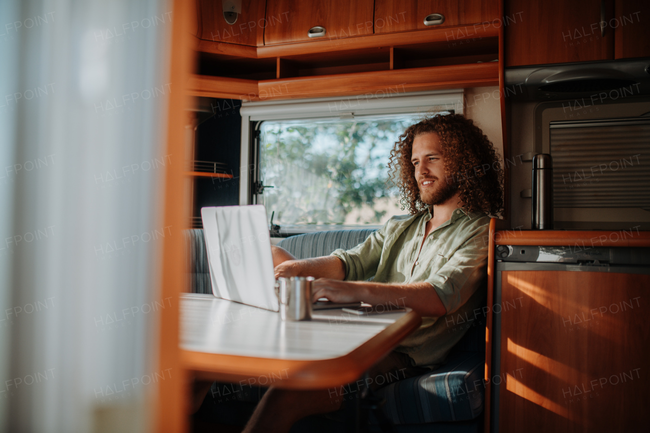
[[[484,363],[484,354],[455,352],[432,373],[379,389],[382,411],[396,425],[474,419],[483,410]]]

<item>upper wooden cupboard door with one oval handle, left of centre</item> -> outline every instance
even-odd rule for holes
[[[269,0],[264,42],[285,44],[372,34],[373,3],[373,0]],[[309,29],[317,26],[324,27],[324,35],[310,38]]]

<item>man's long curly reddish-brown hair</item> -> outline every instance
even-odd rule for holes
[[[422,202],[415,167],[413,139],[436,133],[441,142],[447,180],[455,183],[467,211],[496,216],[503,211],[503,168],[493,144],[471,119],[461,114],[435,115],[406,128],[395,142],[388,168],[401,194],[402,209],[411,215],[429,205]]]

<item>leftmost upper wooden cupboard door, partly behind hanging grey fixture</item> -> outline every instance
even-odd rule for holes
[[[222,1],[199,0],[200,38],[204,40],[227,42],[248,46],[263,45],[266,23],[264,11],[265,0],[242,0],[241,14],[233,24],[226,22]]]

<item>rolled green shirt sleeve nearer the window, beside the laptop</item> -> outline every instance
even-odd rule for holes
[[[377,272],[389,222],[390,220],[351,250],[339,248],[330,254],[343,260],[346,281],[364,281]]]

